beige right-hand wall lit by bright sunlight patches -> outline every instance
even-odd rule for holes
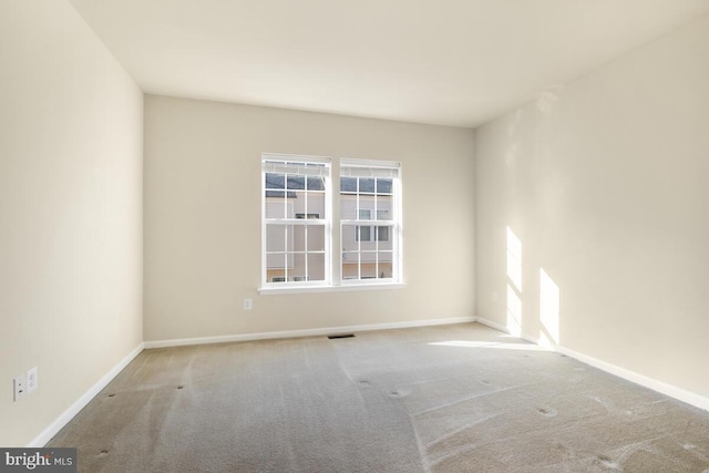
[[[563,347],[709,395],[707,58],[703,18],[476,131],[479,317],[515,305],[510,227],[525,335],[557,299]]]

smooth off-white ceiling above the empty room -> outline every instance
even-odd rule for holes
[[[143,91],[473,127],[709,0],[70,0]]]

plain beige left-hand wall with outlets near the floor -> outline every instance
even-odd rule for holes
[[[0,445],[24,446],[142,341],[142,93],[64,1],[0,2]]]

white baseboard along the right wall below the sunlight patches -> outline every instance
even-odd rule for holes
[[[510,333],[510,330],[503,325],[493,322],[492,320],[484,319],[482,317],[476,317],[475,321],[493,328],[495,330],[503,331],[505,333]],[[534,337],[522,335],[522,339],[526,341],[531,341],[532,343],[538,345],[538,339]],[[703,395],[699,395],[695,392],[684,390],[681,388],[677,388],[676,385],[668,384],[664,381],[658,381],[656,379],[646,377],[645,374],[636,373],[635,371],[630,371],[626,368],[618,367],[616,364],[612,364],[596,358],[589,357],[584,353],[579,353],[578,351],[569,350],[568,348],[556,346],[551,347],[553,351],[557,353],[566,354],[567,357],[574,358],[583,363],[589,364],[594,368],[598,368],[602,371],[607,373],[617,376],[618,378],[623,378],[627,381],[634,382],[636,384],[640,384],[641,387],[651,389],[653,391],[657,391],[665,395],[669,395],[670,398],[675,398],[679,401],[691,404],[696,408],[702,409],[705,411],[709,411],[709,398],[705,398]]]

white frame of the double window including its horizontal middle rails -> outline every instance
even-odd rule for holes
[[[323,164],[328,169],[327,176],[325,176],[325,217],[322,219],[308,218],[308,215],[304,215],[305,218],[297,218],[296,213],[292,214],[292,218],[279,218],[273,219],[266,218],[266,173],[264,163],[266,162],[289,162],[289,163],[318,163]],[[354,158],[340,158],[339,174],[336,175],[338,168],[333,168],[332,160],[326,156],[307,156],[307,155],[294,155],[294,154],[276,154],[264,153],[261,154],[261,285],[258,288],[263,295],[269,294],[300,294],[300,292],[322,292],[322,291],[349,291],[349,290],[374,290],[374,289],[393,289],[404,286],[403,282],[403,251],[402,251],[402,176],[401,176],[401,163],[393,161],[372,161],[372,160],[354,160]],[[345,171],[342,171],[345,169]],[[333,215],[333,208],[338,208],[337,217],[340,216],[340,177],[350,177],[346,174],[371,174],[372,177],[382,177],[383,175],[392,178],[392,203],[390,212],[390,218],[387,220],[380,220],[379,212],[370,210],[369,220],[336,220]],[[337,184],[336,184],[337,183]],[[269,189],[270,191],[270,189]],[[308,210],[308,214],[311,212]],[[372,214],[374,219],[371,219]],[[290,275],[284,277],[268,278],[268,253],[267,253],[267,225],[279,223],[282,225],[322,225],[325,227],[325,280],[302,280],[308,277],[298,274],[290,280]],[[345,279],[342,277],[342,264],[343,264],[343,243],[342,243],[342,226],[343,225],[360,225],[370,227],[370,243],[376,241],[379,245],[379,226],[387,226],[389,230],[389,239],[382,240],[391,243],[392,245],[392,277],[391,278],[361,278],[361,273],[356,279]],[[338,258],[333,257],[333,233],[339,228],[339,247],[335,248]],[[288,253],[286,250],[286,253]],[[338,265],[336,267],[336,265]],[[287,273],[287,271],[286,271]],[[287,278],[289,280],[282,282],[274,282],[269,279],[280,280]]]

